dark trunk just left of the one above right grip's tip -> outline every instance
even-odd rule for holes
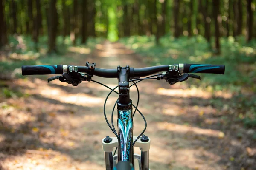
[[[215,0],[214,0],[215,1]],[[206,5],[205,7],[202,4],[202,0],[199,0],[200,8],[204,17],[204,37],[207,39],[207,42],[210,43],[211,40],[211,29],[210,29],[210,22],[211,18],[207,14],[208,8],[208,0],[205,1]],[[210,47],[210,45],[209,45]]]

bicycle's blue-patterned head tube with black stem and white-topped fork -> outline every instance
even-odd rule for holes
[[[140,147],[141,156],[135,154],[132,144],[134,142],[133,136],[133,113],[132,113],[132,100],[129,95],[129,80],[130,71],[129,66],[124,68],[118,67],[118,80],[119,80],[119,100],[117,102],[117,126],[118,126],[118,139],[117,137],[111,138],[107,143],[102,139],[102,146],[105,153],[105,165],[106,170],[113,170],[118,161],[128,161],[134,166],[134,157],[139,161],[140,170],[149,170],[149,154],[150,139],[147,142],[143,142],[140,139],[134,144],[134,146]],[[117,156],[113,156],[113,147],[118,147]]]

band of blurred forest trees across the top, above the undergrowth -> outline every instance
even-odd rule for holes
[[[1,0],[1,46],[10,35],[48,36],[49,52],[58,36],[73,45],[88,37],[115,41],[132,35],[160,37],[203,35],[220,51],[220,37],[256,37],[253,0]],[[214,38],[214,45],[210,45]],[[36,46],[35,46],[36,48]]]

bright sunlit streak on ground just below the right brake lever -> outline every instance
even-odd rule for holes
[[[208,91],[203,91],[198,88],[192,89],[166,89],[166,88],[158,88],[157,94],[165,95],[165,96],[175,96],[175,97],[201,97],[203,99],[209,99],[213,96],[212,93]],[[218,97],[223,97],[226,99],[230,99],[232,97],[231,93],[225,93],[222,91],[217,91],[214,94]]]

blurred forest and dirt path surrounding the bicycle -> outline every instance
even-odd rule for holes
[[[225,64],[201,81],[142,83],[151,169],[256,169],[255,11],[256,0],[0,0],[1,168],[104,169],[108,89],[47,84],[20,69],[89,61]]]

